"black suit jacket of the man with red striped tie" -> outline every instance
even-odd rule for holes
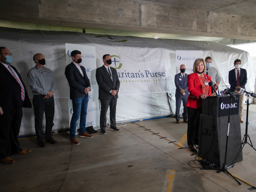
[[[17,80],[13,77],[10,71],[0,63],[0,106],[4,110],[16,110],[21,107],[31,108],[31,102],[28,98],[28,93],[22,78],[15,67],[10,65],[12,69],[17,73],[23,84],[25,91],[25,99],[21,100],[21,87]]]

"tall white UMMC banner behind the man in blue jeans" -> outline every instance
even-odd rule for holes
[[[96,82],[96,51],[94,46],[85,46],[77,44],[68,44],[66,43],[66,62],[67,65],[72,62],[71,52],[73,50],[81,51],[82,63],[86,70],[86,75],[90,79],[91,91],[89,92],[89,102],[87,107],[87,116],[86,116],[86,127],[93,126],[99,128],[100,126],[100,109],[99,109],[99,92],[98,84]],[[68,85],[69,92],[69,85]],[[73,114],[72,111],[72,100],[70,100],[70,94],[68,93],[68,111],[69,111],[69,124]],[[80,118],[77,121],[76,128],[80,128]],[[96,129],[97,129],[96,128]],[[78,132],[77,132],[78,134]]]

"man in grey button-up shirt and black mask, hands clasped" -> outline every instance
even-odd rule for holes
[[[36,66],[28,71],[28,82],[33,93],[33,107],[35,113],[36,140],[40,147],[46,147],[46,142],[55,144],[52,138],[54,118],[54,98],[56,81],[52,70],[45,68],[45,58],[41,53],[33,56]],[[45,141],[43,135],[43,116],[45,113]]]

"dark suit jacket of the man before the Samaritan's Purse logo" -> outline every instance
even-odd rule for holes
[[[110,91],[115,89],[119,90],[120,87],[120,81],[118,79],[116,69],[112,67],[110,67],[110,69],[113,77],[113,83],[108,70],[104,65],[96,69],[96,80],[99,85],[99,99],[101,100],[111,99],[113,95],[111,95]],[[116,93],[114,98],[118,98],[118,93]]]

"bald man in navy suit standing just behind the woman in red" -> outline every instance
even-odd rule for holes
[[[180,123],[180,105],[183,102],[183,121],[188,123],[187,100],[188,100],[188,74],[185,73],[185,65],[180,65],[180,73],[175,75],[174,83],[176,86],[176,123]]]

